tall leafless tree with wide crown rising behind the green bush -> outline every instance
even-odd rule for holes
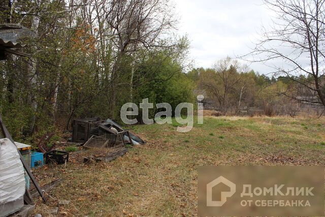
[[[159,42],[176,23],[168,1],[112,0],[106,20],[112,29],[115,61],[111,73],[111,111],[116,102],[116,87],[121,59],[137,49],[159,47]],[[133,69],[134,72],[134,69]],[[132,73],[133,73],[132,72]],[[133,85],[133,75],[131,82]],[[114,114],[111,114],[114,117]]]

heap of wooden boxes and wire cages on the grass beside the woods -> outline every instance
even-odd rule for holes
[[[72,141],[83,143],[90,152],[83,163],[110,162],[127,152],[127,144],[145,144],[138,136],[125,131],[111,119],[100,117],[75,119],[73,121]]]

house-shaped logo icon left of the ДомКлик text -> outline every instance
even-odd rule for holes
[[[212,188],[219,183],[223,183],[227,185],[230,188],[230,191],[221,192],[221,199],[219,201],[213,201]],[[207,184],[207,206],[222,206],[227,201],[227,198],[233,196],[235,192],[236,192],[236,184],[226,179],[223,176],[219,176],[218,178],[214,179],[213,181]]]

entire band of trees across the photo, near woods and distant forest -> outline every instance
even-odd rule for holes
[[[0,112],[16,138],[71,129],[76,117],[118,121],[124,103],[146,98],[174,110],[194,102],[194,90],[205,91],[221,114],[250,107],[266,115],[295,116],[303,107],[323,113],[324,1],[265,0],[278,22],[240,58],[280,60],[284,67],[270,64],[272,77],[229,57],[190,70],[189,41],[177,35],[178,17],[166,0],[1,3],[0,23],[32,31],[20,38],[31,57],[8,54],[0,61]]]

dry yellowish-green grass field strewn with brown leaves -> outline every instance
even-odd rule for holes
[[[148,143],[111,163],[35,171],[41,183],[63,178],[35,213],[71,200],[60,215],[197,215],[199,166],[325,165],[325,119],[206,117],[188,133],[177,126],[133,126]]]

